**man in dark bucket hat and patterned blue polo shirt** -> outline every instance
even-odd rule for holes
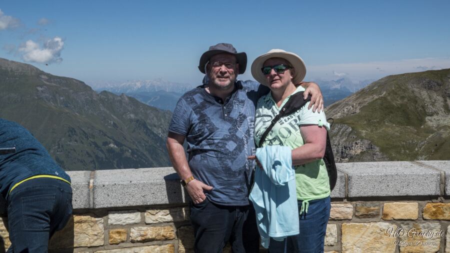
[[[248,202],[254,161],[247,156],[255,151],[256,101],[269,90],[236,79],[246,63],[245,52],[237,52],[231,44],[210,46],[198,65],[206,74],[205,83],[178,100],[168,128],[170,160],[192,199],[196,252],[220,251],[228,241],[233,252],[259,248],[254,210]],[[316,84],[302,85],[321,97]],[[182,146],[185,139],[188,160]]]

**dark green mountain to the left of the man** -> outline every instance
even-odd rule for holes
[[[168,166],[171,113],[0,58],[0,116],[26,127],[66,170]]]

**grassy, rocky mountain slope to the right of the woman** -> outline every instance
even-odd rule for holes
[[[386,76],[325,112],[338,161],[450,159],[450,69]]]

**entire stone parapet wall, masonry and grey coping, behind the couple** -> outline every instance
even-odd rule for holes
[[[450,161],[337,168],[326,252],[450,253]],[[188,196],[173,168],[68,173],[74,215],[53,236],[50,252],[192,252]]]

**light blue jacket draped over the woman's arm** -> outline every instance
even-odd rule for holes
[[[268,248],[270,237],[282,240],[299,233],[295,171],[287,146],[257,148],[256,157],[262,169],[255,170],[249,198],[256,211],[261,244]]]

